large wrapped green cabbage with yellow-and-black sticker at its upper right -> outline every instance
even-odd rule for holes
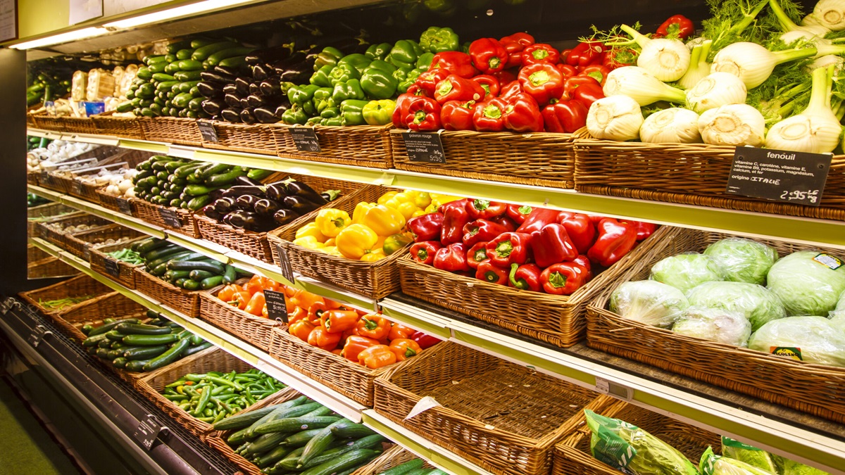
[[[831,254],[800,251],[772,265],[766,280],[787,314],[827,315],[845,291],[845,265]]]

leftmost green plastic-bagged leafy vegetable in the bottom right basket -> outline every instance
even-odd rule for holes
[[[592,432],[590,450],[598,461],[632,475],[698,475],[684,454],[645,430],[589,409],[584,414]]]

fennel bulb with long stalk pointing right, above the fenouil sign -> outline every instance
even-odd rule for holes
[[[742,79],[745,87],[754,89],[771,76],[771,71],[781,63],[815,56],[815,47],[771,52],[765,47],[748,41],[725,46],[713,58],[711,73],[730,73]]]

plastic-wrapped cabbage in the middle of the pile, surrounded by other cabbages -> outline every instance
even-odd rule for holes
[[[780,298],[766,287],[745,282],[705,282],[686,292],[694,307],[720,308],[742,314],[751,322],[751,331],[787,316]]]

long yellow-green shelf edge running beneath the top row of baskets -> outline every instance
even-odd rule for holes
[[[381,184],[395,188],[412,188],[432,193],[459,193],[472,198],[494,199],[521,205],[547,206],[560,210],[651,221],[705,231],[733,232],[751,238],[775,238],[845,249],[845,222],[842,221],[723,210],[706,206],[677,205],[641,199],[577,193],[570,189],[428,175],[392,168],[381,170],[332,165],[237,151],[208,150],[146,140],[121,139],[105,135],[63,134],[34,128],[28,130],[30,135],[49,139],[117,145],[123,148],[147,150],[200,161],[260,167],[278,172],[338,178],[351,182]]]

